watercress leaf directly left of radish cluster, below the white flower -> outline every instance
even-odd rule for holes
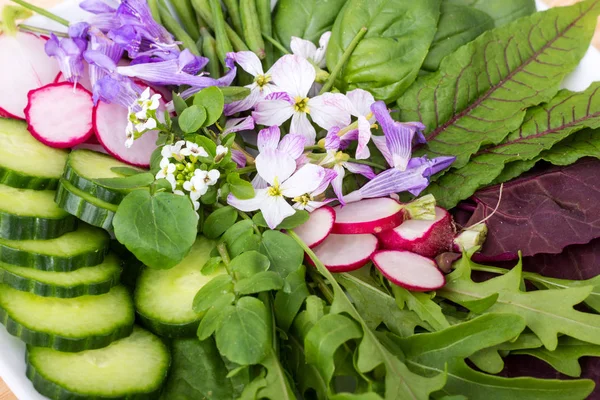
[[[302,248],[289,236],[279,231],[265,231],[260,244],[260,252],[271,261],[271,270],[283,279],[297,271],[304,260]]]

